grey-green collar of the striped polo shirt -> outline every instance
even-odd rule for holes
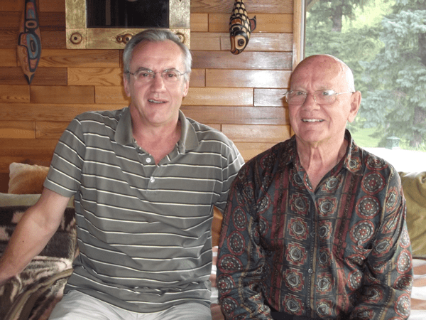
[[[197,133],[191,122],[185,117],[185,114],[179,110],[179,120],[181,125],[181,136],[178,142],[178,148],[181,153],[196,149],[199,145]],[[116,127],[114,136],[117,143],[125,146],[133,144],[133,134],[131,132],[131,114],[129,107],[121,111],[121,117]]]

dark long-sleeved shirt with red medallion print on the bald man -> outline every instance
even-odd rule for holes
[[[295,137],[251,159],[229,193],[219,242],[226,319],[280,312],[407,319],[413,284],[405,198],[383,159],[349,131],[346,155],[313,190]]]

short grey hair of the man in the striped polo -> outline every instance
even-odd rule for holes
[[[136,46],[143,41],[148,42],[163,42],[163,41],[173,41],[176,43],[180,50],[182,50],[182,63],[185,65],[185,80],[188,80],[189,74],[191,73],[191,65],[192,65],[192,55],[190,49],[185,46],[180,38],[175,35],[172,31],[168,29],[148,29],[141,31],[140,33],[131,37],[130,41],[126,44],[123,53],[123,72],[126,73],[127,78],[129,79],[130,72],[130,63],[133,58],[133,51]]]

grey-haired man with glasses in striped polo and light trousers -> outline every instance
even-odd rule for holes
[[[75,196],[80,255],[50,319],[212,319],[212,210],[224,209],[244,161],[180,111],[192,58],[177,36],[143,31],[123,60],[131,104],[72,120],[2,257],[0,285],[43,249]]]

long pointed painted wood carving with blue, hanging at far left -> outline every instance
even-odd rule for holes
[[[28,85],[31,85],[41,54],[40,28],[35,1],[25,0],[16,49]]]

